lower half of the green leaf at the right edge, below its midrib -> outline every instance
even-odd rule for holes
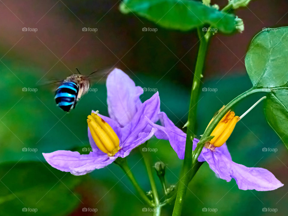
[[[288,90],[270,93],[265,100],[264,112],[269,125],[288,148]]]

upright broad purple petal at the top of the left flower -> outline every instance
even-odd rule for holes
[[[120,69],[115,68],[107,77],[107,104],[109,116],[121,126],[128,124],[141,106],[140,86]]]

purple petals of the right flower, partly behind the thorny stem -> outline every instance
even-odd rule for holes
[[[172,148],[176,151],[180,159],[184,159],[186,134],[177,128],[173,122],[163,112],[159,114],[161,124],[157,125],[148,120],[153,128],[158,129],[155,136],[158,139],[169,140]],[[193,150],[195,150],[198,139],[193,141]],[[241,190],[267,191],[282,187],[283,184],[267,169],[258,167],[246,167],[232,161],[231,155],[227,149],[226,143],[211,151],[203,148],[198,157],[199,162],[206,161],[219,178],[231,181],[235,179],[238,188]]]

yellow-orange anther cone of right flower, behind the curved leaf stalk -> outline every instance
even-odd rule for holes
[[[223,145],[233,132],[235,125],[239,120],[240,117],[235,116],[233,111],[228,111],[212,131],[211,136],[214,137],[211,139],[210,145],[213,145],[214,147]]]

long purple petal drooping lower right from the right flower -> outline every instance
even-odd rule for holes
[[[267,191],[282,187],[283,184],[267,169],[246,167],[233,162],[221,151],[205,151],[202,156],[219,178],[231,181],[234,178],[241,190]]]

